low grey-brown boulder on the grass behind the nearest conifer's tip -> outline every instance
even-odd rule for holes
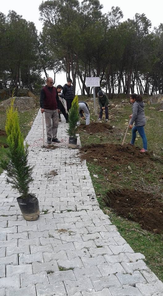
[[[11,98],[2,101],[0,104],[0,110],[6,110],[11,104]],[[31,110],[36,107],[36,100],[32,97],[15,97],[14,107],[18,108],[18,111],[23,112]]]

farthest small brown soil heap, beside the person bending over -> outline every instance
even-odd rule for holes
[[[103,122],[91,122],[89,125],[81,124],[79,130],[86,130],[88,133],[112,133],[112,126]]]

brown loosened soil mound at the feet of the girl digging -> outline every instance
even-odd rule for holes
[[[115,163],[136,162],[139,167],[143,167],[152,160],[152,155],[148,152],[141,153],[140,148],[126,145],[121,146],[119,144],[91,144],[84,146],[80,149],[81,158],[88,161],[94,161],[97,159],[97,163],[102,167],[112,166]],[[161,159],[160,159],[161,161]]]

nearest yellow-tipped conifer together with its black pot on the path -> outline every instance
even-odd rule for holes
[[[28,164],[28,145],[23,143],[14,98],[7,109],[5,130],[9,148],[5,150],[7,159],[1,160],[0,165],[6,171],[6,183],[19,192],[17,202],[23,217],[28,221],[37,220],[40,214],[38,199],[29,193],[33,167]]]

